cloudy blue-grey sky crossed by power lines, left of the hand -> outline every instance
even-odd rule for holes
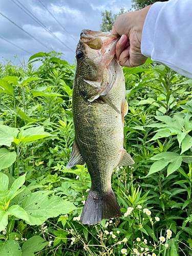
[[[129,10],[131,5],[131,0],[0,0],[0,62],[3,61],[2,57],[14,60],[14,56],[17,55],[15,60],[15,65],[17,65],[23,59],[27,62],[32,54],[49,52],[53,48],[56,52],[64,54],[61,59],[66,58],[73,63],[81,30],[99,30],[102,22],[101,11],[112,10],[113,13],[118,13],[122,7]],[[37,24],[21,8],[27,13],[29,10],[41,25],[46,26],[61,42]],[[2,14],[39,42],[16,27]],[[2,37],[27,52],[11,45]]]

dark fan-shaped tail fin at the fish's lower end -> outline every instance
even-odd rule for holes
[[[121,211],[113,190],[102,195],[90,190],[81,214],[81,223],[95,225],[102,221],[102,219],[121,216]]]

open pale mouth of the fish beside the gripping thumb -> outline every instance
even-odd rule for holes
[[[80,42],[86,46],[87,52],[97,50],[97,55],[104,56],[102,64],[104,67],[108,66],[109,63],[115,56],[115,49],[120,35],[111,34],[110,32],[92,31],[83,29],[80,33]]]

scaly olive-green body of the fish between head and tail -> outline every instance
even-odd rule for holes
[[[117,65],[119,65],[117,63]],[[120,70],[121,71],[121,70]],[[121,88],[122,87],[122,88]],[[122,158],[124,81],[117,81],[108,95],[117,113],[108,103],[97,99],[89,102],[78,91],[74,81],[73,117],[75,138],[92,180],[92,189],[102,194],[111,190],[111,175]],[[121,89],[121,90],[120,90]],[[113,97],[115,95],[115,97]]]

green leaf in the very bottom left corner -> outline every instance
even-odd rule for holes
[[[0,255],[1,256],[22,256],[22,250],[15,240],[2,241],[0,240]]]

